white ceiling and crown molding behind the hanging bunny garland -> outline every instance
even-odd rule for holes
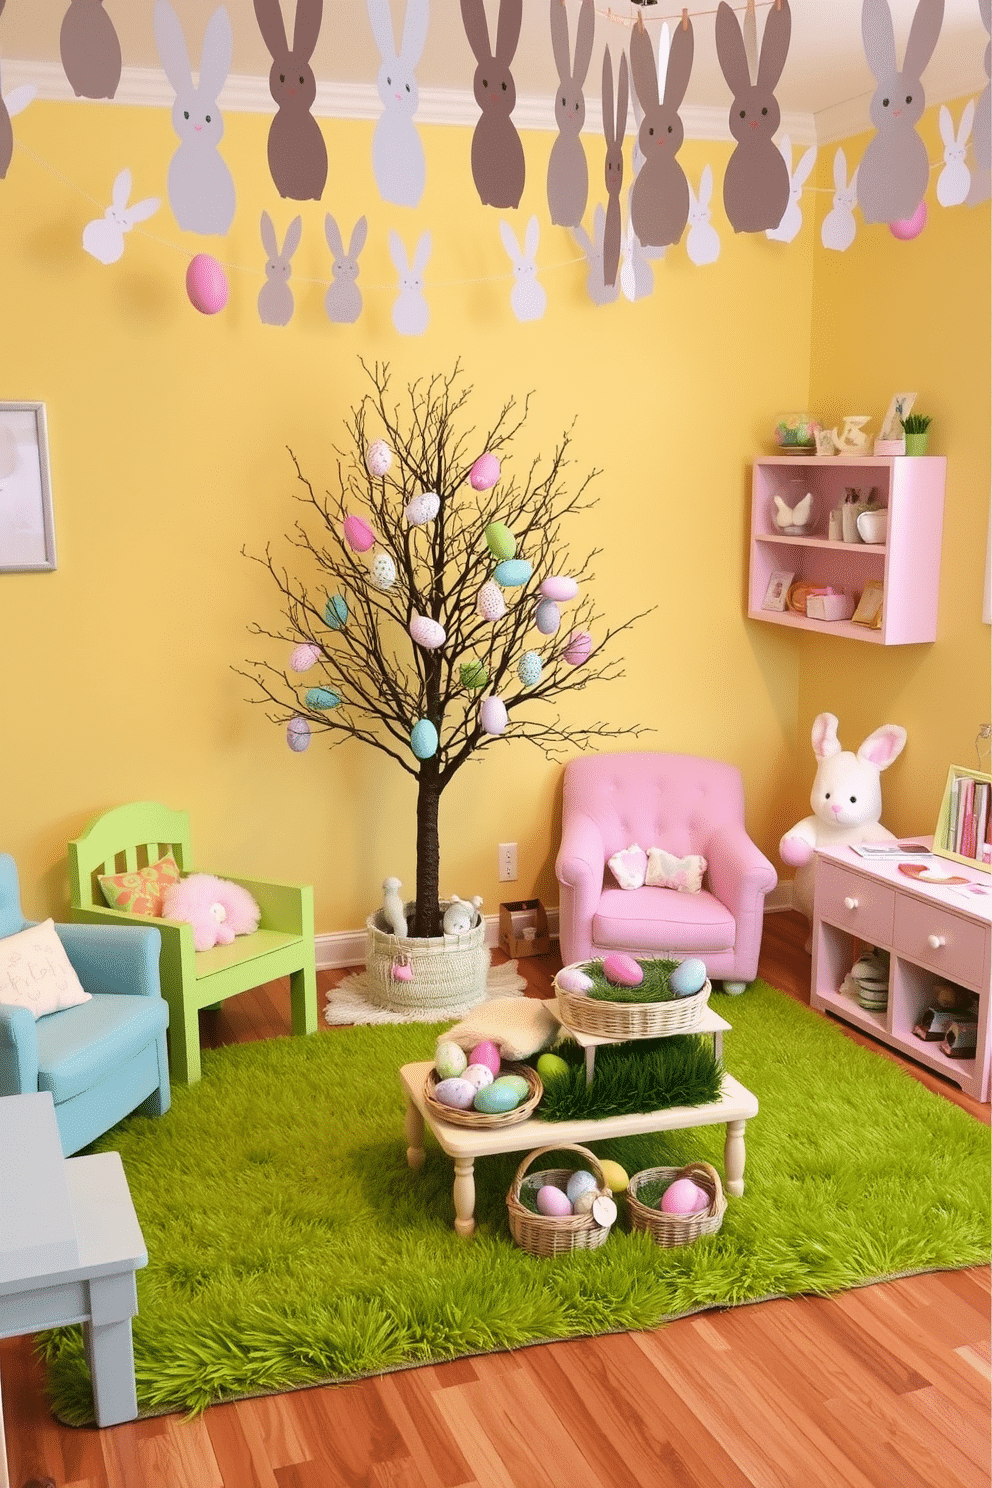
[[[155,0],[104,0],[104,3],[120,39],[125,73],[131,68],[158,70],[152,28]],[[173,3],[183,21],[195,65],[207,19],[217,9],[217,0],[173,0]],[[294,0],[280,0],[280,3],[287,18],[287,33],[292,34],[296,3]],[[405,0],[390,0],[390,3],[399,31]],[[524,27],[513,61],[519,100],[522,103],[546,100],[549,112],[556,86],[549,36],[550,3],[552,0],[524,0]],[[12,82],[22,82],[30,76],[31,62],[39,64],[39,73],[46,73],[49,77],[54,76],[55,67],[61,65],[58,36],[67,4],[68,0],[7,0],[0,16],[4,92]],[[489,30],[495,33],[497,0],[485,0],[485,4]],[[567,0],[567,6],[574,37],[579,0]],[[891,6],[901,55],[916,0],[891,0]],[[744,12],[742,0],[735,0],[735,9]],[[861,0],[791,0],[791,9],[790,57],[776,89],[782,113],[812,116],[811,125],[821,140],[851,128],[867,128],[867,101],[873,79],[861,48]],[[730,92],[720,73],[714,45],[715,0],[703,0],[689,10],[690,15],[696,10],[693,16],[696,48],[684,112],[726,110]],[[766,10],[767,0],[757,7],[759,37]],[[233,28],[232,76],[266,79],[271,58],[259,34],[251,0],[228,0],[228,13]],[[638,6],[632,0],[613,0],[608,6],[604,0],[596,0],[596,48],[586,89],[589,98],[599,95],[604,45],[610,45],[616,58],[619,48],[629,39],[629,25],[637,15],[642,15],[648,30],[657,34],[663,19],[668,18],[675,24],[680,13],[680,7],[666,0],[657,0],[653,6]],[[931,103],[980,92],[986,83],[982,61],[986,43],[979,0],[944,0],[940,42],[924,76]],[[378,62],[366,0],[324,0],[321,37],[314,55],[314,70],[320,83],[373,85]],[[431,0],[430,34],[416,70],[421,92],[443,89],[470,98],[473,70],[474,58],[466,40],[460,0]],[[45,97],[43,88],[40,92]],[[598,115],[598,110],[595,113]],[[692,134],[693,129],[689,128],[687,132]]]

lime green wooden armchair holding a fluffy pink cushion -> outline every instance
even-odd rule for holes
[[[159,972],[162,997],[170,1007],[170,1073],[173,1080],[193,1085],[199,1079],[201,1007],[216,1007],[250,987],[289,976],[293,1033],[315,1031],[314,890],[216,873],[247,888],[262,918],[253,934],[236,936],[231,945],[210,951],[195,951],[192,926],[112,909],[100,887],[101,873],[147,868],[170,850],[183,873],[195,870],[184,811],[138,801],[94,817],[83,835],[68,844],[71,917],[83,924],[152,924],[162,931]]]

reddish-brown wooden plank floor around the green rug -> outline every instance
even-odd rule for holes
[[[805,921],[760,972],[809,1001]],[[522,961],[547,995],[559,961]],[[341,975],[321,973],[332,985]],[[204,1043],[289,1031],[284,988],[205,1013]],[[989,1123],[989,1107],[837,1024]],[[326,1030],[323,1037],[333,1037]],[[989,1269],[712,1311],[333,1388],[58,1426],[30,1341],[0,1344],[10,1482],[58,1488],[988,1488]]]

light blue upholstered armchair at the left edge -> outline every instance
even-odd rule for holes
[[[15,862],[0,853],[0,939],[33,923],[21,912]],[[51,1091],[68,1158],[132,1112],[168,1110],[168,1003],[153,926],[55,930],[91,1000],[37,1022],[28,1009],[0,1003],[0,1095]]]

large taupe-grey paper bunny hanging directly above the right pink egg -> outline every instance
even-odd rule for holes
[[[876,134],[858,165],[858,207],[866,222],[912,217],[927,192],[930,158],[916,125],[927,107],[922,74],[943,16],[944,0],[919,0],[900,68],[888,0],[864,0],[861,6],[864,55],[877,83],[869,109]]]

